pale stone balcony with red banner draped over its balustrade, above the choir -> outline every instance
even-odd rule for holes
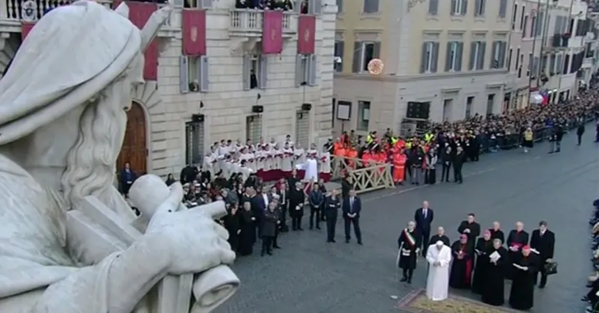
[[[297,33],[297,13],[285,12],[282,19],[283,37]],[[236,37],[261,37],[264,26],[264,11],[234,9],[229,11],[229,35]]]

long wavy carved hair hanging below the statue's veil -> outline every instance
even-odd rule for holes
[[[114,81],[81,115],[79,138],[68,152],[61,179],[64,198],[71,208],[86,195],[96,196],[108,207],[116,205],[112,186],[127,113],[121,103],[114,102],[121,100],[122,83],[121,79]]]

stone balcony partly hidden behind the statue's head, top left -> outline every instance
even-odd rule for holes
[[[60,6],[68,6],[75,0],[0,0],[0,23],[20,26],[22,22],[34,23],[46,13]],[[112,8],[113,0],[96,0],[96,2]],[[158,4],[158,7],[166,4]],[[18,30],[20,31],[20,29]],[[159,37],[170,37],[173,32],[181,31],[181,10],[174,10],[165,26],[162,26]]]

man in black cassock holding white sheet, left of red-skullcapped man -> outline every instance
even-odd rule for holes
[[[481,300],[488,305],[503,305],[505,302],[503,279],[506,277],[506,266],[509,264],[508,250],[503,248],[501,240],[493,239],[493,247],[487,251],[487,255],[493,257],[489,258],[490,263],[485,275]],[[497,255],[499,258],[496,258]]]

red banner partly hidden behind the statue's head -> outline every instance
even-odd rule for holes
[[[126,1],[129,7],[129,20],[138,29],[143,29],[152,13],[158,10],[156,3]],[[158,79],[158,43],[153,40],[146,49],[144,54],[144,79],[148,81],[156,81]]]

